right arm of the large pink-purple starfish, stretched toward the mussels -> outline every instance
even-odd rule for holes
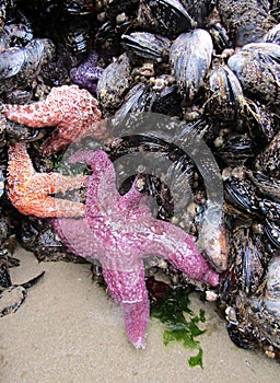
[[[183,229],[152,219],[152,234],[145,243],[145,255],[158,254],[184,271],[190,279],[219,285],[219,275],[197,249],[194,239]]]

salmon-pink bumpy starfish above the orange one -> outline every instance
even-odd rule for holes
[[[52,88],[45,101],[27,105],[3,104],[4,116],[32,128],[54,127],[52,137],[43,144],[45,154],[54,153],[85,135],[96,140],[110,136],[101,120],[97,101],[78,85]]]

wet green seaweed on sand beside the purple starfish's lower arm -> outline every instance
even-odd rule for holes
[[[167,291],[163,298],[151,302],[151,315],[165,325],[163,344],[167,346],[171,341],[176,340],[187,349],[198,350],[196,356],[188,359],[188,364],[190,367],[200,365],[202,369],[203,351],[196,338],[206,332],[198,326],[199,323],[206,322],[206,316],[201,309],[198,315],[195,315],[189,309],[191,291],[192,289],[185,287]]]

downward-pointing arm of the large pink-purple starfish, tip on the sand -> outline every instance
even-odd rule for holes
[[[103,277],[112,297],[124,309],[128,339],[136,348],[144,348],[150,309],[142,262],[135,271],[107,269],[103,264]]]

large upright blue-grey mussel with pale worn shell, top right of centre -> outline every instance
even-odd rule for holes
[[[187,101],[192,101],[205,85],[213,44],[205,30],[195,30],[179,35],[170,50],[171,66],[180,93]]]

